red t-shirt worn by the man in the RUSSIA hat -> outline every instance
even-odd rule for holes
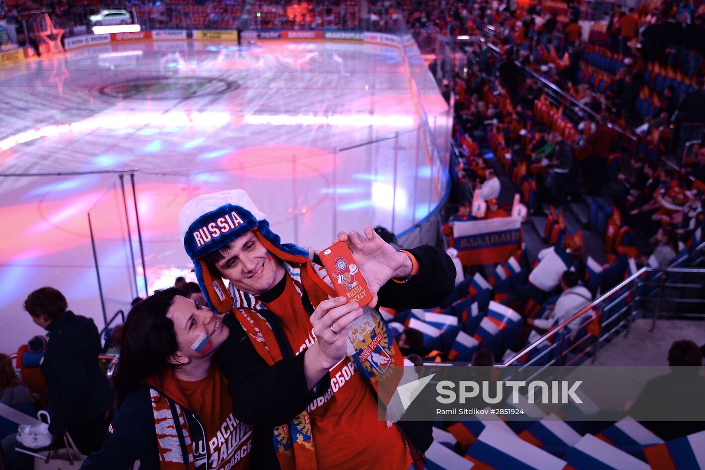
[[[289,275],[283,293],[265,305],[281,321],[294,354],[316,341]],[[405,470],[412,464],[400,430],[378,420],[376,395],[352,359],[331,368],[331,388],[308,411],[319,469],[362,469],[384,462],[386,469]]]

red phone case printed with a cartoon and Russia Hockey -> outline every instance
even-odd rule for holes
[[[357,302],[361,307],[372,302],[367,282],[364,282],[348,245],[342,242],[331,245],[319,253],[319,258],[339,296],[345,297],[348,302]]]

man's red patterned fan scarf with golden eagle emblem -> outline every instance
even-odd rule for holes
[[[293,280],[299,296],[308,296],[314,308],[326,299],[336,297],[328,273],[324,267],[309,263],[307,258],[283,253],[255,230],[259,241],[270,253],[278,256],[286,272]],[[231,294],[235,301],[235,318],[250,337],[259,356],[271,366],[283,358],[283,354],[269,322],[258,310],[264,308],[257,297],[233,286]],[[379,312],[364,308],[348,332],[348,356],[355,361],[357,370],[369,382],[381,402],[386,404],[388,421],[396,421],[403,414],[398,395],[394,395],[396,385],[414,378],[403,376],[404,357],[397,346],[393,333],[387,327]],[[407,375],[410,371],[407,371]],[[379,381],[384,378],[384,387]],[[393,385],[393,386],[391,386]],[[307,411],[293,418],[290,423],[274,428],[274,448],[283,470],[317,469],[310,417]]]

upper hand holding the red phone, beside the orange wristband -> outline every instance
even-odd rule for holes
[[[410,258],[382,240],[372,227],[364,228],[364,236],[355,230],[349,234],[341,231],[333,243],[338,241],[348,243],[348,248],[353,252],[355,263],[360,267],[372,294],[370,308],[377,306],[377,292],[389,279],[393,277],[403,279],[411,274],[413,265]]]

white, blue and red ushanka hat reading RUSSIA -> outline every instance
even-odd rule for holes
[[[269,229],[264,213],[242,189],[221,191],[193,198],[178,215],[178,227],[186,253],[193,260],[198,285],[209,306],[219,313],[233,308],[233,299],[219,272],[203,260],[250,231],[270,253],[290,263],[305,263],[308,251],[293,243],[281,243]]]

